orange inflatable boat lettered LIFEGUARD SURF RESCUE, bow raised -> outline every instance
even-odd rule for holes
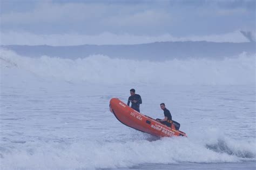
[[[187,137],[186,133],[176,130],[176,126],[173,123],[171,127],[161,124],[159,121],[133,110],[133,108],[117,98],[110,100],[110,111],[116,116],[117,120],[135,130],[157,137]]]

